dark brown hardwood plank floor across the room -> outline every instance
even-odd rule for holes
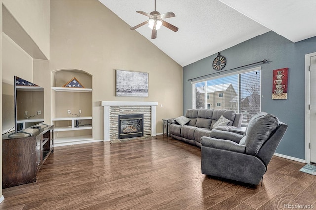
[[[274,156],[262,186],[253,186],[203,175],[200,148],[162,135],[64,146],[55,148],[37,182],[3,189],[0,209],[316,209],[316,176],[298,171],[303,166]]]

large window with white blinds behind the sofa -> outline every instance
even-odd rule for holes
[[[242,113],[243,123],[248,123],[261,111],[261,67],[194,81],[192,96],[193,109],[210,109],[213,104],[213,109]]]

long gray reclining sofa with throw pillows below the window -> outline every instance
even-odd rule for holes
[[[209,137],[212,129],[228,131],[240,127],[242,117],[242,114],[226,109],[188,109],[185,117],[168,120],[169,136],[201,147],[201,137]]]

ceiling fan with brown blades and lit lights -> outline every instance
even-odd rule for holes
[[[146,12],[143,12],[143,11],[136,11],[136,12],[149,17],[149,20],[147,20],[143,23],[140,23],[137,26],[130,28],[130,30],[135,30],[138,27],[141,27],[141,26],[149,23],[148,27],[152,29],[152,39],[156,38],[157,30],[160,29],[161,25],[167,27],[168,29],[171,29],[174,32],[177,32],[179,29],[178,27],[163,20],[165,18],[175,17],[176,15],[173,12],[167,12],[164,14],[160,14],[159,12],[157,12],[156,11],[156,0],[155,0],[155,11],[153,11],[149,14]]]

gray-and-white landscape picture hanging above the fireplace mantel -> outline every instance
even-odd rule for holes
[[[148,73],[115,70],[115,95],[148,97]]]

